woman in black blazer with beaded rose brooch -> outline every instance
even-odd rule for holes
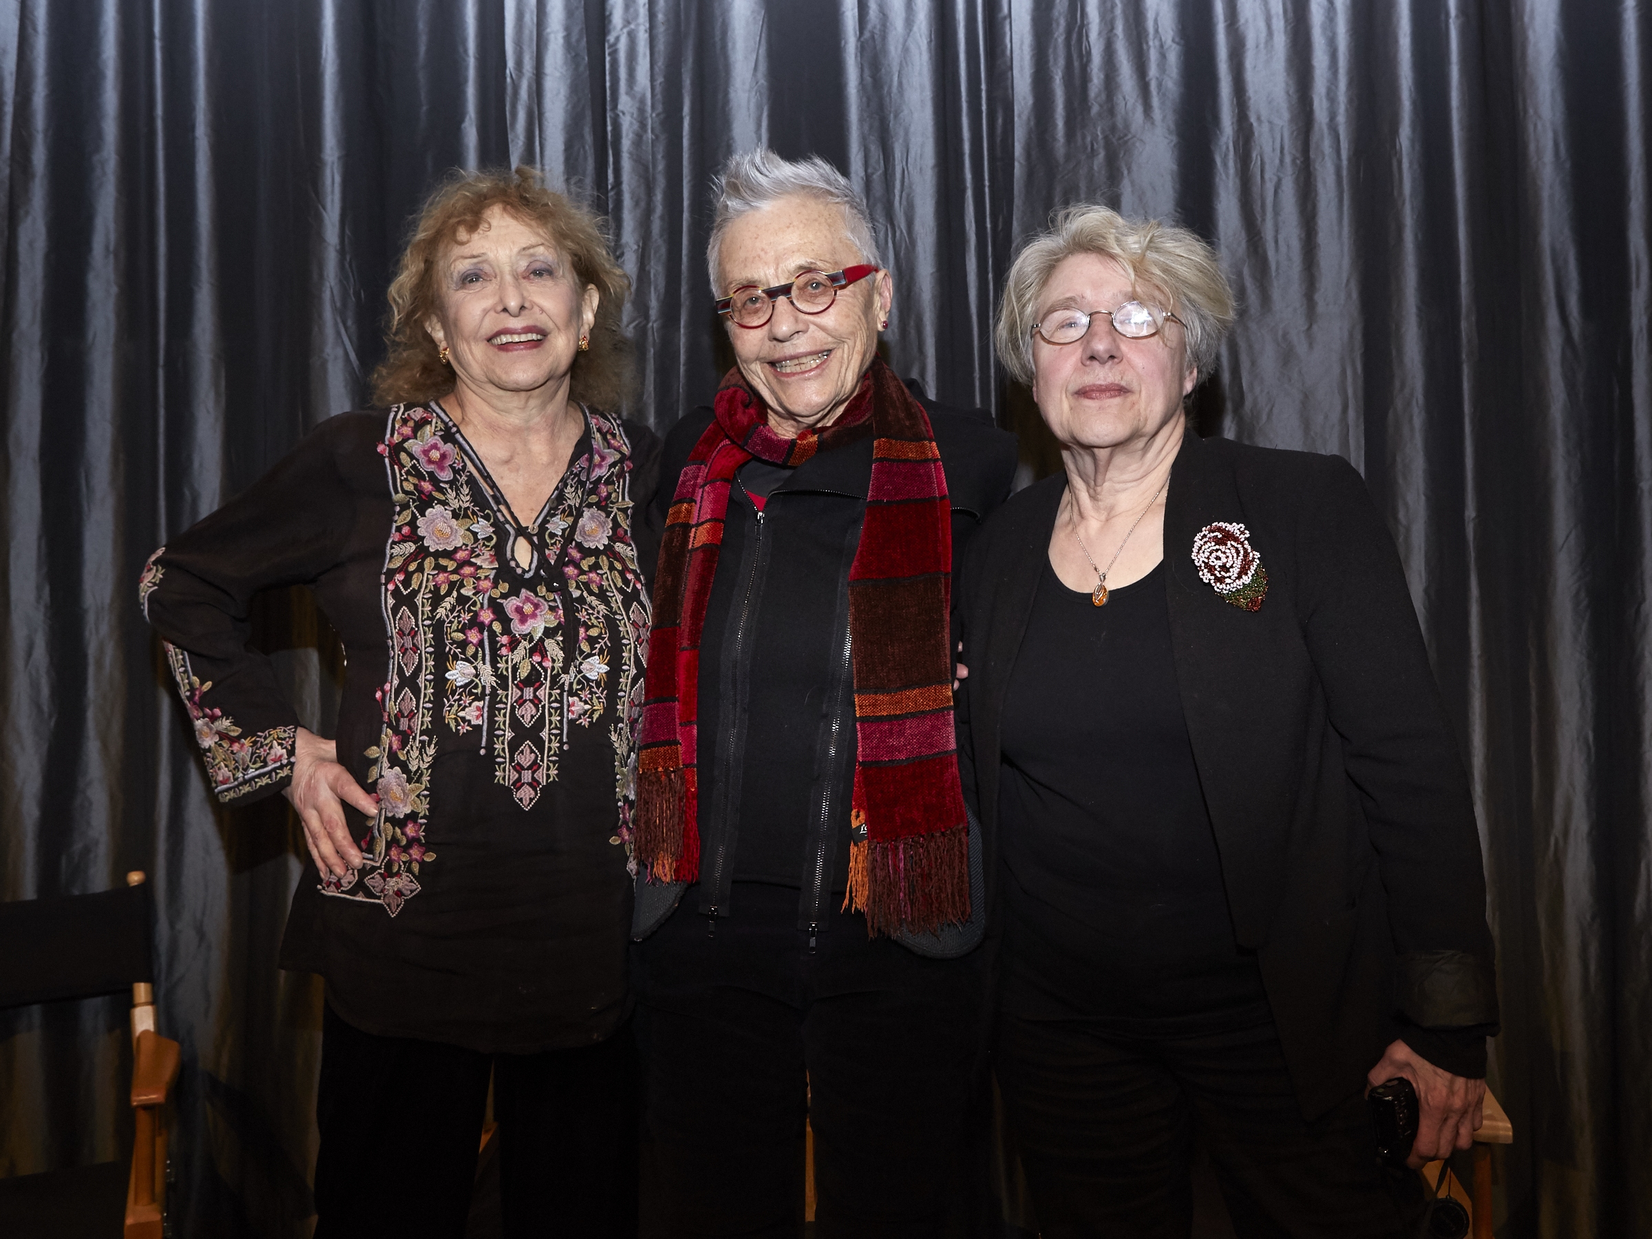
[[[1046,1239],[1186,1236],[1194,1138],[1241,1236],[1409,1234],[1366,1085],[1414,1085],[1412,1165],[1479,1123],[1480,839],[1399,555],[1346,461],[1191,431],[1229,322],[1203,240],[1105,206],[1006,279],[1066,469],[970,545],[966,747]]]

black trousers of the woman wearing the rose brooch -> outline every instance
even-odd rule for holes
[[[1186,1239],[1198,1138],[1241,1239],[1398,1239],[1421,1181],[1384,1170],[1361,1094],[1302,1118],[1272,1024],[1108,1036],[1003,1014],[998,1087],[1044,1239]]]

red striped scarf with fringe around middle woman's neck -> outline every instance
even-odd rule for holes
[[[952,506],[923,406],[874,360],[844,415],[795,439],[768,426],[738,368],[677,479],[654,583],[638,758],[636,854],[656,882],[699,877],[699,649],[729,487],[753,456],[795,466],[872,421],[872,479],[849,567],[859,752],[849,894],[869,933],[970,919],[968,834],[952,719]]]

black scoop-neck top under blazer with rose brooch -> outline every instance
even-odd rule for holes
[[[1044,565],[1003,755],[1006,1009],[1148,1036],[1267,1023],[1188,740],[1163,563],[1105,606]]]

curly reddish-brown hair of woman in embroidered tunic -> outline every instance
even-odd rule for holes
[[[373,400],[380,405],[425,403],[453,392],[453,370],[441,363],[436,342],[425,329],[441,304],[436,268],[443,251],[474,233],[494,206],[542,230],[573,264],[577,281],[596,286],[591,347],[575,354],[568,393],[610,413],[621,411],[636,382],[631,342],[620,329],[631,278],[608,249],[603,220],[568,195],[545,188],[540,173],[525,165],[514,172],[456,170],[425,202],[390,282],[388,355],[373,372]]]

